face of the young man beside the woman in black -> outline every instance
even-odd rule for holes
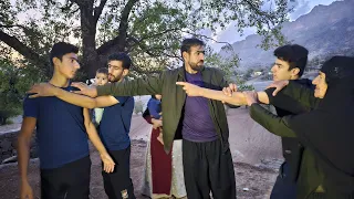
[[[296,80],[299,69],[295,67],[289,71],[289,62],[277,59],[271,69],[271,72],[273,73],[273,81]]]

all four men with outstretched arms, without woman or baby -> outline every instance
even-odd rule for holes
[[[216,199],[237,198],[229,128],[225,104],[201,96],[188,96],[186,86],[198,85],[225,92],[236,92],[222,72],[204,66],[205,43],[186,39],[180,48],[184,65],[157,76],[124,81],[132,61],[125,53],[107,60],[108,81],[102,86],[71,83],[77,63],[77,48],[56,43],[51,51],[54,74],[49,83],[32,86],[24,101],[24,116],[19,135],[19,168],[21,198],[33,197],[28,182],[29,140],[37,127],[41,161],[42,198],[87,199],[90,195],[90,156],[87,135],[103,160],[104,188],[112,198],[135,198],[129,177],[129,127],[135,95],[162,94],[164,113],[163,139],[170,153],[174,139],[183,139],[183,165],[187,197]],[[308,62],[308,50],[284,45],[274,51],[273,78],[299,80]],[[189,84],[186,84],[186,83]],[[309,85],[309,81],[299,80]],[[178,84],[178,85],[176,85]],[[77,90],[79,88],[79,90]],[[210,92],[212,92],[210,90]],[[187,90],[186,90],[187,91]],[[287,96],[272,95],[272,90],[259,92],[264,104],[274,104],[279,115],[299,114],[308,109]],[[238,104],[247,104],[242,93]],[[244,101],[243,101],[244,100]],[[293,112],[282,109],[293,103]],[[82,108],[83,107],[83,108]],[[105,107],[97,136],[87,108]],[[283,138],[285,161],[271,198],[295,198],[296,177],[303,147],[296,138]]]

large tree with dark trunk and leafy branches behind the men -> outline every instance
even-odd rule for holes
[[[263,48],[282,43],[280,24],[288,0],[10,0],[0,1],[0,44],[19,52],[44,74],[51,74],[48,51],[58,41],[74,41],[82,50],[82,71],[93,76],[112,52],[128,52],[135,75],[178,62],[179,42],[201,29],[223,29],[237,21],[238,32],[256,27]],[[268,9],[268,8],[267,8]],[[19,15],[28,15],[19,20]],[[3,45],[4,44],[4,45]]]

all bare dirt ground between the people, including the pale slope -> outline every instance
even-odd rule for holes
[[[230,148],[233,157],[237,196],[239,199],[266,199],[277,177],[281,163],[280,139],[258,124],[247,114],[247,109],[229,109]],[[149,125],[140,116],[134,116],[131,127],[132,157],[131,170],[135,196],[140,195],[146,142]],[[101,161],[95,149],[91,148],[92,175],[91,198],[107,199],[103,189]],[[37,198],[40,198],[39,160],[32,159],[29,166],[29,180]],[[243,191],[248,188],[248,191]],[[19,172],[17,164],[0,165],[0,198],[19,198]]]

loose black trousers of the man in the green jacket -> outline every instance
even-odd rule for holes
[[[187,198],[235,199],[236,182],[230,149],[222,153],[219,139],[208,143],[183,140]]]

